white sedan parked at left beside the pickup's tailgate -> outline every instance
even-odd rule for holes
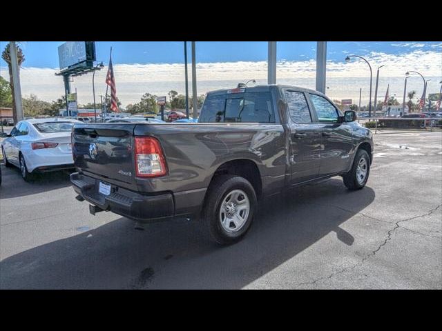
[[[28,119],[19,121],[1,142],[5,165],[20,168],[25,181],[36,172],[74,168],[70,132],[75,119]]]

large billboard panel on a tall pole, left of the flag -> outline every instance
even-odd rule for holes
[[[92,66],[95,61],[94,41],[67,41],[58,47],[58,59],[60,70],[86,61],[86,65]]]

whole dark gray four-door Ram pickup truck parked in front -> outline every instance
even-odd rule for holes
[[[209,92],[198,123],[84,123],[73,128],[77,200],[139,221],[198,219],[238,241],[258,201],[342,176],[365,186],[372,132],[324,94],[266,85]]]

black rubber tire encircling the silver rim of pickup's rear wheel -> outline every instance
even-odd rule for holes
[[[241,227],[238,227],[239,230],[227,232],[222,226],[220,208],[224,199],[227,199],[233,190],[240,190],[247,195],[249,213]],[[256,206],[256,192],[247,179],[232,174],[222,174],[213,179],[207,190],[200,223],[205,234],[213,241],[221,245],[236,243],[249,230]]]

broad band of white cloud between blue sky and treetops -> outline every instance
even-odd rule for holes
[[[373,81],[376,79],[376,68],[381,69],[379,93],[390,83],[390,90],[398,95],[403,91],[403,77],[408,70],[421,72],[425,77],[434,77],[439,82],[442,78],[442,53],[439,50],[414,50],[407,54],[385,54],[371,52],[366,57],[372,65]],[[145,92],[166,95],[169,90],[177,90],[184,94],[184,64],[114,64],[117,96],[123,106],[135,103]],[[40,99],[51,101],[64,94],[63,80],[55,76],[55,68],[24,67],[21,72],[21,90],[23,95],[37,94]],[[95,97],[106,93],[107,68],[95,73]],[[0,67],[2,77],[9,79],[8,69]],[[282,60],[277,65],[278,83],[290,83],[307,88],[315,87],[316,61]],[[421,91],[421,81],[409,79],[410,89]],[[239,61],[220,63],[197,63],[198,94],[218,88],[231,88],[241,81],[256,79],[258,83],[267,82],[267,61]],[[191,66],[189,65],[189,83],[191,83]],[[430,84],[432,83],[432,84]],[[439,85],[429,83],[429,90],[439,92]],[[350,63],[327,61],[327,86],[332,97],[339,99],[358,99],[359,88],[363,88],[363,102],[368,99],[369,70],[367,63],[360,59],[352,59]],[[77,88],[79,103],[93,101],[92,75],[75,77],[71,83],[73,90]],[[191,90],[191,89],[190,89]],[[434,90],[434,91],[433,91]],[[382,92],[382,93],[381,93]],[[365,95],[367,94],[367,95]]]

